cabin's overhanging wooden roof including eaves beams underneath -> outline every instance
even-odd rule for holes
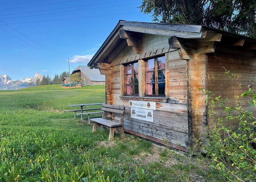
[[[170,48],[181,48],[176,44],[181,44],[184,41],[190,41],[195,43],[195,41],[228,41],[230,37],[238,39],[238,42],[232,42],[233,44],[244,44],[244,40],[249,43],[249,46],[252,47],[252,43],[255,43],[255,39],[251,39],[246,36],[233,34],[219,29],[206,27],[204,25],[186,25],[186,24],[168,24],[168,23],[148,23],[148,22],[138,22],[138,21],[125,21],[119,20],[116,27],[104,41],[102,46],[87,64],[91,69],[94,68],[94,63],[109,62],[110,54],[117,48],[122,41],[127,40],[128,46],[132,46],[135,53],[138,51],[136,48],[139,46],[136,45],[136,39],[141,37],[142,33],[153,34],[153,35],[165,35],[170,36],[172,39],[169,39]],[[177,39],[176,39],[177,37]],[[131,40],[131,41],[128,41]],[[190,40],[189,40],[190,39]],[[240,41],[240,39],[242,41]],[[233,40],[234,41],[234,40]],[[127,46],[126,44],[126,46]],[[130,45],[129,45],[130,44]],[[125,45],[125,44],[123,44]],[[246,44],[248,46],[248,44]],[[183,46],[183,45],[182,45]],[[254,46],[253,44],[253,47]],[[124,47],[118,46],[118,49],[123,49]],[[182,47],[189,48],[189,47]],[[139,53],[139,52],[138,52]]]

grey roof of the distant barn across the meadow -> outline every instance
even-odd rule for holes
[[[95,82],[105,82],[105,75],[101,75],[98,69],[90,69],[87,66],[78,66],[73,70],[72,74],[80,70],[85,76],[87,76],[91,81]]]

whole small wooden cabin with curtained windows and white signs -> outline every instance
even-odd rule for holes
[[[205,141],[216,120],[199,88],[229,99],[244,92],[225,68],[249,84],[256,78],[255,43],[203,25],[120,20],[88,66],[106,75],[106,103],[126,106],[125,132],[187,150]],[[240,104],[249,108],[247,98]]]

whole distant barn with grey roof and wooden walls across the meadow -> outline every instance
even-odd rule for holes
[[[101,75],[97,69],[91,70],[87,66],[78,66],[72,71],[72,74],[77,72],[84,79],[83,84],[85,85],[105,85],[105,75]]]

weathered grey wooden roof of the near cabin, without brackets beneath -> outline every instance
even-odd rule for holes
[[[138,21],[125,21],[119,20],[116,27],[104,41],[102,46],[87,64],[91,69],[94,68],[94,63],[96,62],[109,62],[108,56],[118,47],[118,45],[123,41],[120,37],[120,31],[125,30],[128,32],[137,33],[148,33],[153,35],[165,35],[165,36],[176,36],[185,39],[204,39],[206,32],[221,33],[222,36],[234,37],[245,39],[249,42],[254,42],[255,39],[251,39],[246,36],[238,35],[235,33],[229,33],[226,31],[221,31],[219,29],[207,27],[204,25],[187,25],[187,24],[169,24],[169,23],[148,23],[148,22],[138,22]],[[220,40],[219,40],[220,41]]]

